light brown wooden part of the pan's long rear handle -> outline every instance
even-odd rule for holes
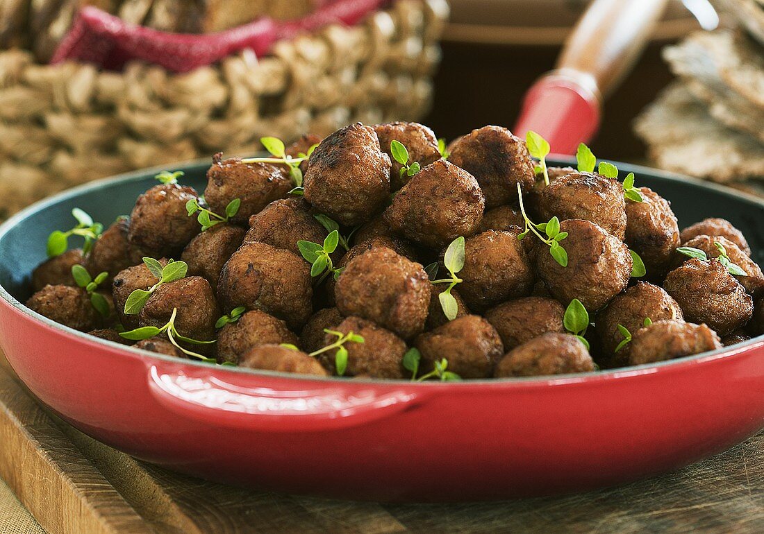
[[[565,42],[558,74],[606,96],[646,46],[667,0],[594,0]]]

